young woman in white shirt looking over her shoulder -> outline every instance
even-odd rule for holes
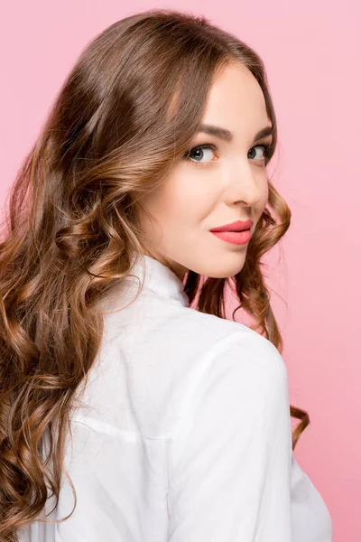
[[[204,17],[82,52],[0,245],[2,542],[331,540],[261,269],[276,144],[263,62]]]

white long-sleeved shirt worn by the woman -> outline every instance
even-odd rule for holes
[[[191,309],[171,269],[143,262],[133,304],[118,310],[132,277],[103,300],[113,313],[67,446],[77,507],[21,542],[330,542],[329,510],[292,452],[279,351]],[[49,519],[73,504],[64,481]]]

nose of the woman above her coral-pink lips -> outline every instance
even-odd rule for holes
[[[255,207],[263,196],[264,172],[248,161],[237,161],[228,171],[225,201]]]

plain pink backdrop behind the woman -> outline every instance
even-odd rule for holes
[[[290,401],[310,414],[295,456],[329,508],[334,542],[361,540],[359,6],[14,0],[3,6],[0,33],[3,203],[80,50],[125,15],[151,7],[205,14],[264,59],[280,130],[273,182],[292,209],[291,228],[267,258],[269,285]]]

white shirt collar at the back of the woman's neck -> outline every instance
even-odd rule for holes
[[[145,290],[152,290],[169,299],[175,299],[183,306],[189,305],[188,295],[180,278],[159,260],[146,254],[135,254],[130,274],[139,278]],[[136,281],[137,284],[137,281]]]

